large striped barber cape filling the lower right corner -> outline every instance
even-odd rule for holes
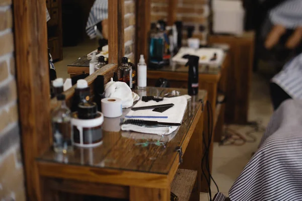
[[[229,191],[232,201],[302,200],[302,102],[272,115],[254,154]]]

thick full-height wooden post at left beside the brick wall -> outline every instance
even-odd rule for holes
[[[49,64],[45,0],[15,0],[15,47],[26,190],[41,200],[35,158],[50,147]]]

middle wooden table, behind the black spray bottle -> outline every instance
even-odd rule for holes
[[[208,94],[208,101],[212,107],[212,118],[214,133],[210,139],[209,148],[209,167],[211,171],[212,167],[212,154],[213,154],[213,141],[216,142],[221,140],[221,135],[223,133],[224,124],[224,104],[217,104],[217,100],[223,100],[223,93],[226,91],[226,81],[228,78],[228,66],[229,66],[229,55],[223,60],[221,67],[216,68],[206,68],[205,66],[199,66],[199,89],[204,89]],[[147,71],[147,85],[154,86],[159,78],[166,78],[170,82],[171,87],[187,88],[188,87],[188,68],[180,66],[178,68],[172,68],[171,66],[166,66],[161,69],[153,70],[148,69]],[[218,93],[221,91],[222,93]],[[205,113],[207,115],[207,112]],[[205,140],[209,140],[210,133],[207,129],[208,118],[204,118],[204,131],[207,134]],[[207,176],[208,178],[208,176]],[[202,177],[202,192],[207,192],[208,187],[206,184],[206,179]]]

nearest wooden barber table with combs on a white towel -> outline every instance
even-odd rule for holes
[[[158,95],[163,90],[168,92],[173,88],[147,87],[146,90],[136,92]],[[184,89],[177,90],[181,94],[187,92]],[[197,175],[190,200],[199,200],[203,103],[206,98],[206,91],[199,90],[197,96],[188,100],[182,125],[170,135],[114,132],[116,128],[109,125],[116,127],[121,117],[105,118],[103,144],[99,147],[75,148],[72,154],[66,155],[47,151],[37,159],[43,200],[59,200],[58,197],[64,196],[62,193],[65,192],[130,200],[168,201],[170,190],[182,183],[177,182],[182,173],[186,174],[182,178]],[[129,110],[123,110],[123,116]],[[179,147],[183,153],[181,165],[177,151]],[[187,170],[178,170],[178,167]],[[190,173],[189,170],[194,171]],[[175,181],[176,172],[178,179]],[[174,193],[185,191],[178,188],[178,192]],[[80,195],[75,196],[76,200],[82,200]],[[75,200],[75,197],[65,194],[63,200]]]

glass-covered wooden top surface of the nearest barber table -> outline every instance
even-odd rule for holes
[[[173,88],[147,87],[145,90],[136,90],[135,92],[139,95],[142,93],[159,95],[163,90],[169,92]],[[187,94],[186,89],[176,90],[179,90],[181,94]],[[102,126],[102,145],[96,148],[75,147],[73,153],[65,155],[49,150],[37,160],[38,162],[56,164],[168,174],[174,161],[178,160],[176,147],[182,146],[187,140],[189,129],[192,123],[196,122],[194,118],[199,119],[201,114],[202,104],[200,100],[205,98],[206,91],[199,90],[197,96],[192,96],[188,100],[182,125],[170,135],[158,136],[121,130],[114,132],[119,129],[117,125],[120,123],[120,119],[130,110],[124,109],[122,117],[105,118]]]

